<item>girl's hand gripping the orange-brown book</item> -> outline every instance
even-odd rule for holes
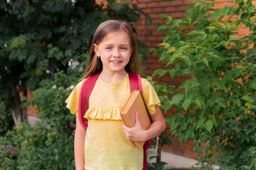
[[[139,121],[139,114],[136,113],[135,116],[135,125],[133,128],[129,128],[125,125],[122,126],[124,133],[126,134],[126,137],[130,141],[146,141],[146,130],[144,130],[141,127],[140,121]]]

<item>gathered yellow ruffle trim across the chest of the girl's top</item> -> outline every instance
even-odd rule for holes
[[[86,119],[121,120],[122,107],[91,107],[84,117]]]

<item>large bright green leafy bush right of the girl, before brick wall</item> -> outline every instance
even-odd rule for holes
[[[160,15],[166,33],[152,49],[166,64],[152,76],[185,78],[179,87],[157,84],[162,109],[177,108],[166,121],[180,144],[197,142],[201,169],[256,169],[256,7],[252,0],[215,9],[214,0],[191,3],[182,20]],[[238,26],[250,34],[236,38]]]

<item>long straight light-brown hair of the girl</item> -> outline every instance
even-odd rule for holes
[[[127,22],[121,20],[107,20],[99,24],[97,30],[95,31],[94,37],[92,39],[92,45],[89,53],[88,66],[85,69],[85,73],[81,79],[85,79],[90,75],[99,73],[102,71],[103,64],[100,58],[97,58],[95,51],[93,49],[93,44],[99,45],[99,43],[106,38],[109,33],[116,31],[125,31],[130,39],[130,44],[133,47],[132,54],[130,56],[130,61],[125,66],[126,72],[136,73],[139,64],[137,44],[135,42],[135,36],[132,33],[132,29]]]

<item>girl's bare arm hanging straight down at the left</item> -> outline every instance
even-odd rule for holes
[[[85,129],[79,122],[79,117],[76,116],[76,130],[74,136],[74,156],[76,170],[84,170],[84,143]]]

